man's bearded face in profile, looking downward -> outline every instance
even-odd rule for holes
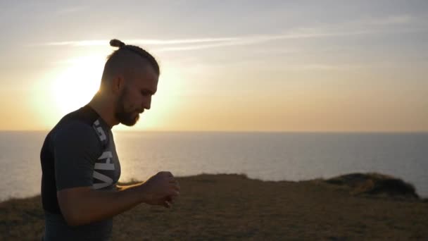
[[[134,70],[118,97],[115,118],[123,125],[135,125],[139,114],[144,109],[150,109],[151,96],[157,89],[158,75],[150,65]]]

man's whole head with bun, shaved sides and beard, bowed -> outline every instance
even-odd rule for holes
[[[119,49],[108,56],[99,92],[113,99],[119,123],[134,125],[139,113],[150,109],[151,96],[158,88],[159,66],[144,49],[117,39],[110,44]]]

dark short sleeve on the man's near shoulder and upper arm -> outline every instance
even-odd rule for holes
[[[73,122],[61,128],[53,140],[56,190],[92,187],[101,143],[92,126]]]

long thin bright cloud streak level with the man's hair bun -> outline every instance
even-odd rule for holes
[[[363,19],[348,23],[337,23],[317,27],[296,28],[282,34],[272,35],[244,35],[234,37],[201,37],[194,39],[125,39],[127,44],[158,47],[155,51],[189,51],[198,49],[212,49],[218,47],[240,46],[249,44],[260,44],[264,42],[285,39],[310,39],[320,37],[345,37],[352,35],[387,34],[396,32],[419,32],[427,31],[427,28],[410,28],[405,24],[414,22],[412,16],[388,16],[379,19]],[[367,26],[371,27],[367,27]],[[403,26],[405,27],[385,27]],[[46,42],[33,44],[31,46],[65,46],[65,47],[94,47],[107,46],[108,39],[80,40],[66,42]]]

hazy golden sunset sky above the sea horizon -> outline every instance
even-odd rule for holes
[[[428,131],[428,1],[0,0],[0,130],[50,130],[110,39],[160,63],[147,131]]]

